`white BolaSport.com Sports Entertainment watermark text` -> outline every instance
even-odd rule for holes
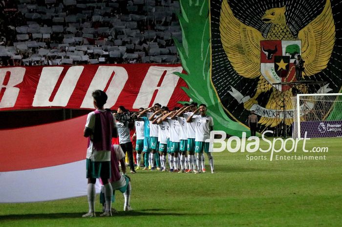
[[[210,139],[206,140],[209,143],[210,152],[222,152],[228,150],[231,153],[241,152],[247,153],[246,160],[326,160],[326,153],[329,151],[328,147],[315,146],[312,149],[306,149],[307,132],[304,138],[272,138],[268,139],[265,134],[273,133],[273,131],[264,131],[261,138],[256,136],[247,137],[246,133],[242,133],[242,137],[232,136],[226,141],[226,133],[224,131],[211,131]],[[221,136],[215,139],[215,136]],[[300,142],[300,143],[299,143]],[[214,147],[214,145],[216,147]],[[217,146],[219,145],[219,146]],[[257,152],[260,152],[258,155]],[[287,153],[297,152],[295,155],[286,155]],[[270,153],[270,156],[266,155]],[[311,155],[312,153],[320,153],[321,155]]]

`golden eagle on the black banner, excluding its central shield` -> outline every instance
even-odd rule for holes
[[[222,1],[220,12],[220,35],[223,49],[232,64],[234,70],[242,77],[249,79],[258,78],[256,92],[244,107],[250,109],[257,104],[256,98],[264,92],[273,88],[260,72],[260,42],[265,40],[299,40],[301,41],[301,57],[305,61],[305,75],[310,77],[321,72],[327,67],[335,44],[335,23],[331,10],[330,0],[327,0],[321,14],[313,21],[302,28],[298,37],[294,37],[286,24],[285,6],[272,8],[265,12],[261,20],[265,23],[272,23],[272,26],[264,38],[256,28],[248,26],[239,21],[227,2]],[[302,86],[299,89],[305,91]],[[272,89],[270,99],[265,108],[283,109],[283,97],[285,97],[285,109],[293,109],[291,97],[292,89],[279,91]],[[282,119],[261,117],[260,124],[274,127]],[[292,119],[288,118],[286,124],[291,124]]]

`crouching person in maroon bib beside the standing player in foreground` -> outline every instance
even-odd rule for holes
[[[122,173],[120,173],[119,169],[119,162],[121,165]],[[125,203],[124,203],[124,211],[132,210],[130,207],[130,195],[131,195],[131,185],[130,185],[130,178],[126,176],[126,165],[125,165],[125,153],[121,149],[120,145],[113,144],[111,147],[110,152],[110,179],[109,183],[111,184],[113,188],[113,200],[114,202],[115,198],[115,190],[119,190],[122,193],[124,193],[125,197]],[[100,194],[100,203],[103,204],[104,207],[106,207],[105,204],[105,194],[103,193],[104,186],[101,186],[101,194]],[[115,212],[115,210],[114,210]],[[107,216],[111,216],[111,213]]]

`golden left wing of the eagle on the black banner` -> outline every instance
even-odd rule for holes
[[[261,33],[245,25],[233,15],[227,0],[222,1],[220,34],[223,49],[234,70],[245,78],[257,78],[260,73]]]

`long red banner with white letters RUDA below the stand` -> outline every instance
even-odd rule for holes
[[[104,90],[106,108],[128,109],[153,103],[174,107],[189,101],[176,76],[180,64],[61,65],[0,68],[0,110],[33,108],[93,109],[91,93]]]

